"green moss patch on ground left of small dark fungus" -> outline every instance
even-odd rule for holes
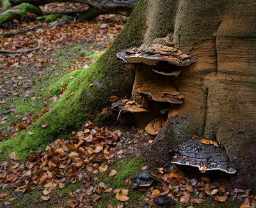
[[[110,188],[119,188],[119,189],[129,189],[129,206],[136,207],[136,205],[141,205],[143,203],[144,194],[134,190],[131,186],[125,186],[125,179],[135,177],[140,168],[143,166],[141,158],[125,158],[124,161],[118,162],[112,167],[109,167],[106,174],[102,174],[100,180],[104,184],[109,185]],[[116,175],[109,177],[108,174],[111,170],[116,170]],[[99,207],[107,207],[108,204],[118,205],[121,202],[115,199],[115,193],[109,193],[109,195],[102,194],[102,199],[99,201]]]

